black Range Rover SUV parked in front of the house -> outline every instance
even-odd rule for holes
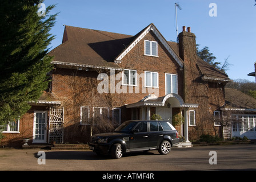
[[[114,159],[131,151],[158,150],[169,154],[179,143],[177,130],[167,121],[126,121],[113,133],[96,134],[89,143],[97,154],[110,154]]]

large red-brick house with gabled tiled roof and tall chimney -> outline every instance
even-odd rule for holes
[[[21,145],[23,138],[87,143],[93,133],[153,114],[170,122],[183,115],[177,129],[186,142],[222,135],[214,116],[223,110],[230,79],[199,59],[190,27],[178,40],[167,41],[153,23],[134,36],[65,26],[62,44],[49,52],[49,90],[6,127],[1,146]]]

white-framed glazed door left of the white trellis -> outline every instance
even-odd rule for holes
[[[47,111],[34,111],[33,143],[46,143]]]

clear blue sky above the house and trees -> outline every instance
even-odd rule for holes
[[[254,72],[256,61],[256,6],[254,0],[45,0],[46,6],[57,4],[51,14],[59,12],[51,30],[56,38],[51,49],[62,42],[63,24],[119,34],[135,35],[154,23],[166,40],[176,40],[175,6],[178,32],[191,27],[199,48],[209,47],[223,63],[229,57],[227,74],[233,80],[246,79]],[[210,3],[217,5],[217,16],[210,16]]]

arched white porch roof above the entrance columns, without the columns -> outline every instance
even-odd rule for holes
[[[170,100],[168,100],[170,98]],[[183,101],[182,97],[175,93],[167,94],[162,97],[155,97],[153,94],[149,94],[149,96],[144,97],[141,101],[135,102],[133,104],[126,105],[127,108],[133,107],[143,107],[143,106],[155,106],[162,107],[167,106],[167,102],[172,107],[198,107],[198,104],[187,104]]]

